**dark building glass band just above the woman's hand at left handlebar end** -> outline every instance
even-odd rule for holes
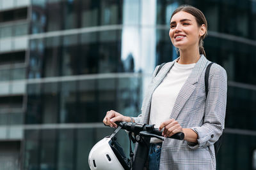
[[[26,124],[102,122],[108,110],[136,116],[141,84],[141,77],[29,84]]]

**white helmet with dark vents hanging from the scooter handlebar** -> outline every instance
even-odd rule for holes
[[[116,144],[118,143],[112,141],[109,136],[96,143],[88,157],[90,169],[124,170],[129,168],[127,166],[127,160],[129,161],[129,159],[124,158],[124,154],[120,154],[120,150],[115,148]]]

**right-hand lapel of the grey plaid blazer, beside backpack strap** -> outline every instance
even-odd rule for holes
[[[180,110],[183,108],[184,104],[186,103],[186,101],[188,101],[189,97],[195,90],[198,78],[201,76],[206,63],[207,59],[204,57],[204,55],[201,55],[198,62],[196,62],[191,74],[189,74],[188,80],[185,81],[178,94],[170,118],[174,118],[176,120],[176,118],[178,117]]]

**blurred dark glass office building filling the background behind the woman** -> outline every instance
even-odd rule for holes
[[[106,111],[138,115],[154,67],[177,57],[180,4],[204,12],[207,58],[228,74],[218,169],[256,169],[255,0],[0,0],[0,169],[89,169]]]

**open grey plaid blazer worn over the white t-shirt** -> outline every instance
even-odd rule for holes
[[[141,115],[134,118],[135,122],[148,124],[152,94],[174,62],[175,60],[164,64],[157,76],[159,66],[156,67],[143,100]],[[183,128],[193,129],[198,134],[198,143],[165,138],[161,150],[160,169],[216,169],[213,144],[220,138],[224,129],[227,73],[220,65],[212,64],[209,73],[209,92],[205,99],[204,76],[209,63],[210,61],[201,55],[182,86],[170,115],[170,118],[177,120]]]

